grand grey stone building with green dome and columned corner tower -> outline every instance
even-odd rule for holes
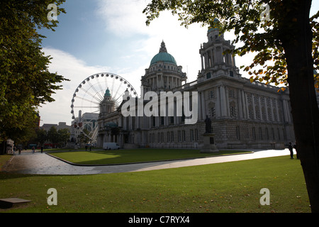
[[[101,108],[98,146],[116,142],[124,148],[197,148],[203,145],[204,120],[211,118],[218,149],[284,148],[294,142],[289,89],[241,77],[232,55],[234,46],[218,29],[208,30],[201,45],[201,70],[196,81],[186,83],[186,74],[162,42],[159,53],[141,78],[141,94],[197,92],[198,121],[185,124],[185,116],[123,116],[121,106]],[[228,50],[228,52],[225,52]],[[111,96],[111,94],[108,94]],[[129,94],[123,96],[128,100]],[[130,97],[133,99],[133,97]],[[109,97],[101,105],[108,103]],[[147,104],[144,101],[143,106]],[[160,109],[160,107],[159,107]],[[112,128],[118,128],[114,132]],[[113,132],[112,132],[113,130]]]

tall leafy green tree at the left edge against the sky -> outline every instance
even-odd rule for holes
[[[48,71],[51,58],[41,51],[45,37],[38,33],[54,31],[58,21],[47,19],[47,6],[64,1],[0,1],[0,142],[26,131],[38,117],[38,106],[54,101],[51,95],[67,80]]]

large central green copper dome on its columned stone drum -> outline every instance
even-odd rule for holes
[[[181,66],[177,66],[174,57],[167,52],[165,43],[162,41],[159,53],[152,58],[150,67],[142,76],[144,90],[141,92],[144,94],[148,91],[164,92],[180,87],[187,79],[186,73],[181,72],[181,69]]]

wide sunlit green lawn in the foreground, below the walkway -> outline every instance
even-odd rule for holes
[[[47,189],[57,189],[57,206]],[[270,191],[262,206],[260,189]],[[145,172],[47,176],[0,173],[0,198],[32,202],[3,212],[310,212],[299,160],[289,156]]]

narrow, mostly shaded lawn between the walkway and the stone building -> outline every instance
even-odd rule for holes
[[[212,155],[233,155],[250,153],[243,150],[221,150],[220,153],[200,153],[199,150],[190,149],[132,149],[132,150],[92,150],[50,153],[63,160],[77,164],[103,165],[120,164],[128,162],[150,162],[158,160],[174,160],[194,157],[207,157]]]

